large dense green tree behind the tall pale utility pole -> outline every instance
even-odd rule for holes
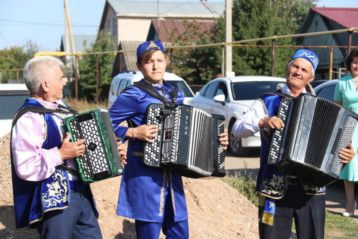
[[[316,0],[233,0],[233,40],[246,40],[297,33],[309,7]],[[219,18],[213,29],[215,42],[225,41],[225,19]],[[292,38],[279,39],[276,45],[294,45]],[[270,45],[271,41],[250,44]],[[284,76],[287,61],[295,48],[276,48],[275,76]],[[217,56],[218,58],[219,56]],[[233,71],[236,75],[271,75],[270,47],[233,47]]]

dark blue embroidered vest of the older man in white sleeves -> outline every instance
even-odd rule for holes
[[[282,95],[278,90],[277,94]],[[266,93],[260,96],[259,100],[263,103],[267,111],[268,117],[278,115],[278,109],[283,96],[272,93]],[[277,166],[268,164],[269,148],[272,140],[273,130],[267,133],[261,130],[261,155],[260,155],[260,169],[257,177],[256,191],[266,197],[273,199],[280,199],[287,190],[288,181],[290,177],[286,174],[281,174],[277,170]],[[264,135],[265,134],[265,135]],[[303,190],[308,195],[322,195],[326,193],[326,187],[318,188],[312,184],[302,181]]]

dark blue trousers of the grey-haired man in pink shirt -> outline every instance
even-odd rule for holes
[[[87,187],[82,191],[71,190],[68,208],[49,211],[37,223],[41,239],[101,239],[91,197]]]

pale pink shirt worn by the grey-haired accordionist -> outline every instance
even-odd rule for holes
[[[38,100],[38,99],[37,99]],[[38,100],[46,108],[58,108],[58,104]],[[64,114],[51,114],[60,130],[61,141],[66,135],[63,127]],[[43,149],[45,142],[45,119],[42,114],[27,112],[12,128],[11,150],[17,175],[27,181],[41,181],[51,176],[55,167],[62,164],[58,148]],[[77,170],[74,159],[65,160],[70,168]],[[68,174],[70,180],[77,180]]]

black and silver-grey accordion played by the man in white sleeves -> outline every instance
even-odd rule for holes
[[[268,163],[317,187],[337,180],[343,165],[338,152],[351,142],[358,115],[303,93],[283,98],[277,117],[285,127],[274,130]]]

